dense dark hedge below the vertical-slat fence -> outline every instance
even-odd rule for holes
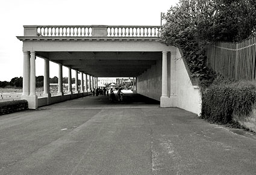
[[[233,114],[248,115],[255,97],[255,89],[250,87],[210,87],[202,93],[201,117],[215,123],[229,123]]]

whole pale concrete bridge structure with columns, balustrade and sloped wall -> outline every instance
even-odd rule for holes
[[[136,92],[199,114],[201,95],[174,46],[159,41],[161,26],[23,26],[23,94],[29,108],[86,96],[98,77],[133,77]],[[45,60],[43,97],[36,95],[36,57]],[[58,96],[49,92],[49,61],[59,65]],[[63,66],[69,69],[68,94],[63,94]],[[71,88],[75,70],[75,92]],[[78,91],[78,72],[81,90]],[[84,84],[84,75],[86,80]],[[89,84],[87,84],[87,75]],[[92,84],[91,84],[92,82]]]

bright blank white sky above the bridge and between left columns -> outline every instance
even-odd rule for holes
[[[0,81],[23,76],[23,25],[160,25],[161,12],[178,0],[8,0],[0,1]],[[36,58],[36,76],[43,75]],[[72,72],[72,75],[74,73]],[[50,62],[50,77],[58,66]],[[63,67],[63,76],[67,68]]]

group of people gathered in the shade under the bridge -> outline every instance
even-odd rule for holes
[[[116,101],[116,96],[115,96],[115,94],[114,94],[114,90],[113,90],[113,88],[110,88],[110,94],[108,94],[108,88],[103,88],[103,89],[101,89],[101,88],[96,88],[96,90],[95,90],[95,88],[92,90],[92,88],[90,89],[90,95],[91,96],[99,96],[99,95],[103,95],[103,96],[110,96],[110,101],[111,102],[114,102],[114,101]],[[122,88],[119,88],[118,89],[118,91],[117,91],[117,96],[118,96],[118,100],[119,101],[122,101],[123,100],[123,93],[122,93]]]

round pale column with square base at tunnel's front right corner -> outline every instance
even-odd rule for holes
[[[163,51],[163,60],[162,60],[162,94],[160,98],[160,106],[161,107],[169,107],[170,100],[167,96],[167,52]]]

